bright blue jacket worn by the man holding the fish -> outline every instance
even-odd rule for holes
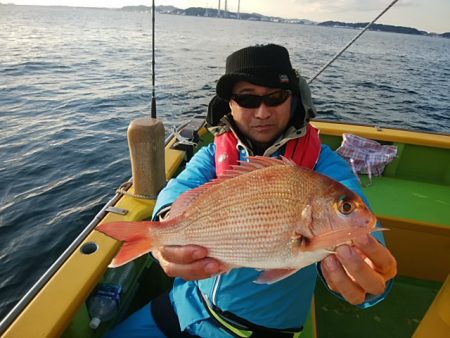
[[[246,156],[245,149],[241,149],[241,160]],[[214,158],[214,144],[200,149],[186,165],[186,169],[170,180],[161,191],[154,215],[170,206],[183,192],[214,179],[216,177]],[[326,145],[322,146],[315,170],[341,182],[365,199],[350,166]],[[383,242],[380,232],[375,233],[375,236]],[[203,320],[209,318],[197,288],[223,311],[230,311],[255,324],[278,329],[302,327],[311,307],[317,275],[320,275],[320,264],[307,266],[271,285],[254,283],[259,274],[260,271],[255,269],[239,268],[224,275],[199,281],[177,278],[171,292],[171,300],[178,314],[181,329],[188,328],[191,333],[199,334],[196,328]],[[378,303],[385,294],[377,297],[369,296],[360,307],[365,308]]]

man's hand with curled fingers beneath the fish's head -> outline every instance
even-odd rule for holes
[[[397,274],[397,262],[390,251],[371,235],[341,245],[335,255],[322,261],[322,273],[328,287],[349,303],[364,302],[366,294],[380,295],[386,281]]]

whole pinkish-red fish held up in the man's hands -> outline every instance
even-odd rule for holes
[[[116,222],[97,230],[124,241],[112,267],[162,245],[196,244],[230,269],[265,270],[270,283],[373,231],[362,199],[287,159],[251,157],[221,178],[182,194],[161,222]]]

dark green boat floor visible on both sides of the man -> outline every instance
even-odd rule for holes
[[[152,264],[139,280],[140,288],[137,297],[122,313],[116,322],[144,306],[148,299],[158,295],[162,290],[170,288],[171,279],[167,278],[159,266]],[[308,319],[300,338],[410,338],[419,322],[433,302],[442,283],[415,278],[396,277],[392,291],[377,306],[360,309],[330,294],[322,281],[317,281],[315,292],[315,321]],[[78,313],[80,323],[88,321],[86,309]],[[81,316],[81,317],[80,317]],[[82,318],[84,317],[84,318]],[[100,338],[108,326],[91,331],[86,324],[73,323],[64,334],[64,338],[79,337],[80,328],[84,327],[83,337]],[[316,334],[314,333],[316,329]]]

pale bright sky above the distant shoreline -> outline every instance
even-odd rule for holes
[[[0,0],[17,5],[60,5],[80,7],[151,6],[151,0]],[[217,8],[218,0],[155,0],[158,5],[178,8]],[[372,21],[392,0],[241,0],[241,12],[312,21]],[[221,0],[223,8],[225,0]],[[236,12],[238,0],[227,0]],[[377,23],[413,27],[427,32],[450,32],[450,0],[399,0]]]

